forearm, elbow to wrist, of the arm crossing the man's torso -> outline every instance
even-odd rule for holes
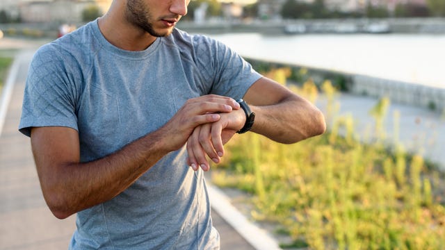
[[[52,173],[39,173],[49,208],[63,219],[113,199],[168,153],[159,142],[159,135],[152,133],[99,160],[65,163],[51,167]]]

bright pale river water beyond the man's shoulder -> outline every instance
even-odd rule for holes
[[[320,83],[341,81],[341,90],[442,113],[445,35],[261,33],[209,34],[250,61],[307,69]]]

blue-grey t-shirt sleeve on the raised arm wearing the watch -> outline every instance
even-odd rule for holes
[[[210,94],[243,98],[250,86],[262,77],[261,74],[222,42],[204,36],[199,39],[197,58],[202,63],[200,68],[213,83]]]

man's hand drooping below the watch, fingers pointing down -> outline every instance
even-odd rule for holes
[[[187,141],[188,165],[197,170],[209,170],[206,155],[219,163],[224,156],[224,144],[227,143],[245,124],[245,113],[242,109],[230,113],[221,113],[217,122],[197,126]]]

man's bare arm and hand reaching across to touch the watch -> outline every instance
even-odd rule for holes
[[[220,114],[236,108],[238,104],[228,97],[188,100],[159,130],[90,163],[80,163],[76,130],[32,128],[31,145],[44,199],[60,219],[113,199],[166,153],[180,149],[196,126],[216,122]]]

